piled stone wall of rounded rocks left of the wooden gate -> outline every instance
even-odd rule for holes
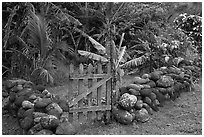
[[[16,116],[26,134],[76,134],[68,122],[68,102],[51,94],[43,86],[34,86],[22,79],[3,82],[3,109]]]

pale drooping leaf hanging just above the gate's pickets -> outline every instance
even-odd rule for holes
[[[108,59],[106,59],[106,58],[103,57],[103,56],[97,55],[97,54],[95,54],[95,53],[91,53],[91,52],[83,51],[83,50],[78,50],[78,53],[79,53],[81,56],[87,57],[87,58],[89,58],[89,59],[93,59],[93,60],[101,61],[101,62],[105,62],[105,63],[108,62]]]

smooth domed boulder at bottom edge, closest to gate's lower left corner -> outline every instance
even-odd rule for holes
[[[57,135],[75,135],[76,133],[76,127],[70,122],[60,123],[55,132]]]

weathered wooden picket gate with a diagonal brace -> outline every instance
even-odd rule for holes
[[[78,67],[71,64],[69,78],[67,86],[62,89],[69,100],[70,111],[66,116],[69,121],[101,120],[104,116],[110,119],[112,92],[110,63],[106,65],[98,63],[94,66],[80,64]]]

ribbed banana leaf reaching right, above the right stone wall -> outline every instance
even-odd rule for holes
[[[149,55],[148,54],[145,54],[145,55],[142,55],[141,57],[139,58],[135,58],[135,59],[132,59],[128,62],[126,62],[125,64],[121,65],[120,68],[135,68],[137,66],[140,66],[142,64],[144,64],[147,60],[149,60]]]

